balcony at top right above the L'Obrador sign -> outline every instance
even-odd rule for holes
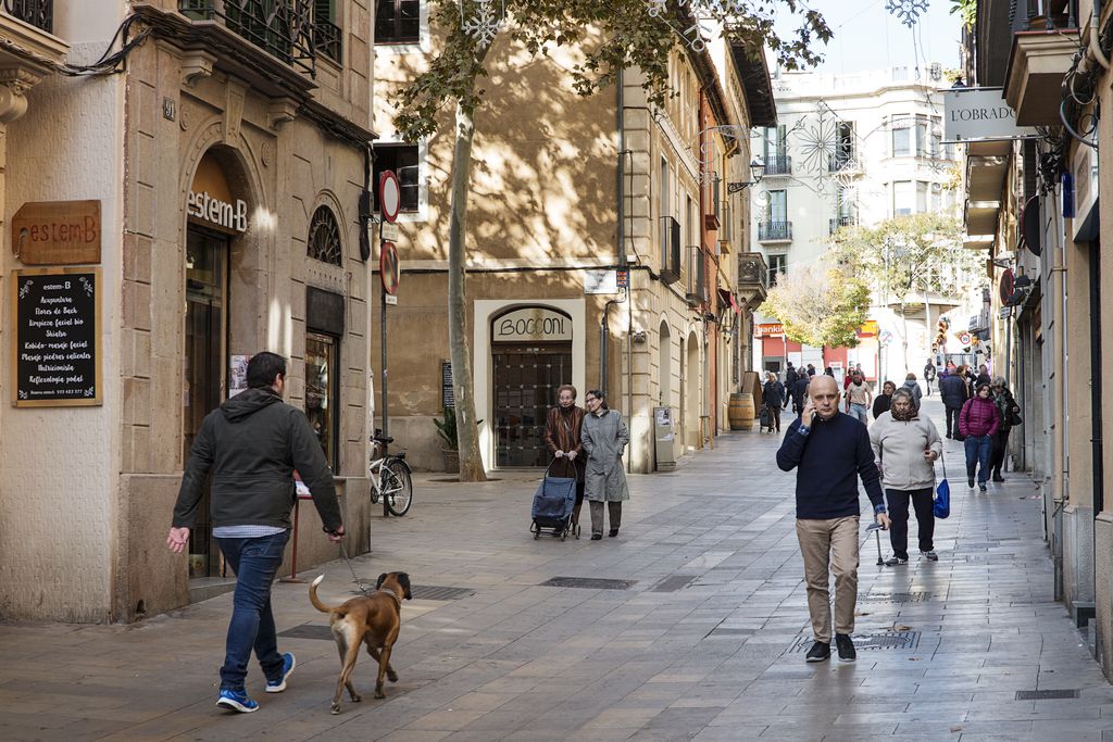
[[[1063,75],[1078,48],[1076,0],[1020,0],[1005,100],[1017,126],[1058,126]]]

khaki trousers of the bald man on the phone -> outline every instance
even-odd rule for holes
[[[854,633],[854,609],[858,602],[858,516],[829,521],[798,518],[796,537],[804,555],[811,633],[817,642],[830,644],[830,572],[835,573],[835,633]]]

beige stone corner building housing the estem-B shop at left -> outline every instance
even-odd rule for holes
[[[9,125],[6,220],[28,202],[99,201],[100,260],[85,265],[102,384],[99,405],[0,410],[6,617],[131,621],[227,588],[204,516],[188,560],[164,542],[193,435],[262,349],[288,358],[286,399],[314,424],[366,550],[372,9],[257,4],[53,6],[71,66],[117,29],[134,44],[119,73],[47,77]],[[27,268],[3,253],[6,275]],[[12,356],[2,369],[11,395]],[[335,557],[312,506],[299,525],[299,567]]]

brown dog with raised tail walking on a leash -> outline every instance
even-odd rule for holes
[[[375,592],[371,595],[361,595],[343,605],[331,606],[317,598],[317,585],[324,578],[325,575],[321,575],[309,585],[309,602],[322,613],[328,614],[328,627],[333,631],[333,640],[341,653],[341,676],[336,681],[332,708],[333,713],[338,714],[345,687],[354,702],[363,700],[352,684],[352,671],[359,656],[361,642],[367,645],[367,654],[378,662],[375,698],[386,698],[383,693],[384,677],[390,677],[392,683],[397,682],[398,675],[391,666],[391,650],[394,649],[402,626],[402,598],[413,600],[413,595],[410,592],[410,575],[405,572],[390,572],[378,575]]]

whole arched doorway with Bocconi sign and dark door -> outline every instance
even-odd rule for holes
[[[545,414],[572,383],[572,318],[543,306],[495,315],[491,368],[495,466],[545,466]]]

